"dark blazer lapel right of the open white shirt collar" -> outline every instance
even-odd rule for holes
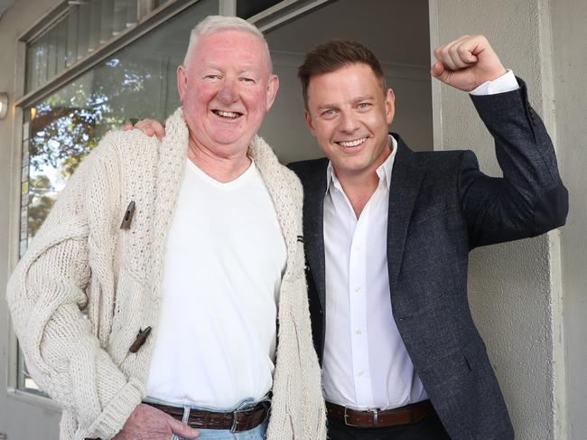
[[[391,173],[387,211],[387,270],[389,292],[392,296],[402,265],[407,226],[424,177],[424,166],[418,164],[414,152],[405,145],[400,136],[393,136],[397,140],[397,153]]]

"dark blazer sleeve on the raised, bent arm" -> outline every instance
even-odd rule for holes
[[[480,172],[475,154],[461,155],[459,195],[470,248],[525,239],[563,226],[568,192],[545,126],[520,89],[471,96],[495,140],[503,177]]]

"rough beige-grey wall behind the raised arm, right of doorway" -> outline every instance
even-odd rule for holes
[[[526,80],[531,102],[553,133],[547,2],[438,0],[433,4],[439,42],[461,34],[485,34],[504,65]],[[484,172],[499,175],[493,141],[469,98],[443,86],[439,100],[442,148],[471,148]],[[554,359],[560,345],[560,317],[553,312],[560,303],[560,279],[558,262],[551,255],[558,246],[557,236],[554,231],[471,253],[471,308],[519,439],[561,438],[555,435],[555,421],[562,417],[558,405],[562,367]]]

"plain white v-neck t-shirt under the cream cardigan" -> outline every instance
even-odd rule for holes
[[[219,408],[262,398],[286,249],[254,163],[219,183],[186,161],[164,261],[147,396]]]

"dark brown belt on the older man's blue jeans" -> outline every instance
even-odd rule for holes
[[[167,407],[156,403],[144,403],[160,409],[177,420],[183,419],[183,407]],[[253,429],[265,422],[269,415],[269,407],[269,402],[260,402],[255,407],[238,409],[229,413],[191,409],[187,424],[196,429],[229,429],[230,432],[239,433]]]

